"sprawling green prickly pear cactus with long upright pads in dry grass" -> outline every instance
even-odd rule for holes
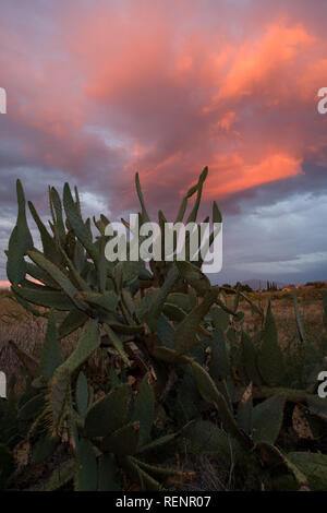
[[[196,220],[206,176],[207,168],[182,200],[177,222],[193,195],[187,222]],[[137,175],[136,191],[141,225],[149,215]],[[47,490],[121,490],[133,484],[162,490],[195,477],[171,463],[185,446],[195,458],[208,454],[221,465],[232,458],[239,489],[327,488],[320,450],[327,408],[316,394],[324,362],[313,363],[304,384],[290,375],[270,303],[264,312],[238,286],[231,307],[231,290],[213,286],[201,261],[109,262],[109,219],[93,219],[94,236],[77,190],[73,194],[68,183],[62,199],[49,189],[49,228],[28,202],[43,251],[34,247],[20,181],[17,203],[7,273],[16,300],[48,326],[39,361],[11,344],[26,390],[17,398],[11,383],[8,401],[0,402],[0,488],[15,487],[13,454],[24,440],[31,464],[49,460],[63,440],[69,445],[43,484]],[[161,211],[158,218],[162,226]],[[213,220],[221,222],[215,202]],[[241,299],[262,320],[253,336],[244,330]],[[62,341],[73,332],[77,345],[63,359]],[[100,384],[90,371],[94,355],[106,369]],[[301,450],[294,432],[286,441],[295,408],[320,443],[316,451]]]

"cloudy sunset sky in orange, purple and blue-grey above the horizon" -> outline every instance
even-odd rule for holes
[[[138,171],[172,220],[205,166],[214,281],[327,279],[326,16],[325,0],[2,0],[0,282],[17,178],[45,220],[65,181],[114,220],[138,210]]]

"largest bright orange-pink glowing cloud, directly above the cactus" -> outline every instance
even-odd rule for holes
[[[173,19],[161,2],[145,4],[138,12],[128,2],[122,15],[104,3],[82,13],[68,37],[87,100],[133,140],[120,179],[137,169],[155,200],[158,183],[167,194],[182,191],[204,165],[207,196],[303,172],[306,148],[318,153],[320,144],[298,114],[314,112],[326,41],[305,20],[279,13],[240,40],[219,23],[206,35],[196,25],[186,29],[185,2]]]

